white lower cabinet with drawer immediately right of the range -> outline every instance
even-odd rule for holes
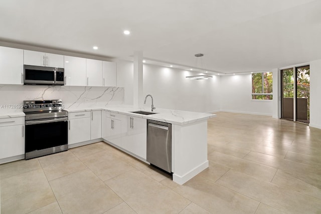
[[[68,113],[68,144],[90,140],[90,112]]]

